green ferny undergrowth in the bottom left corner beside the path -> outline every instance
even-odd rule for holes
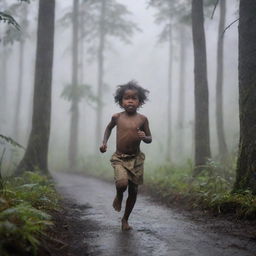
[[[52,226],[48,212],[57,209],[53,183],[39,173],[2,180],[0,189],[0,255],[36,255]]]

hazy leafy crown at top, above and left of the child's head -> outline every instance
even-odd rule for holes
[[[104,1],[104,14],[102,14],[102,0],[84,0],[79,7],[80,21],[84,24],[84,32],[80,39],[84,38],[90,44],[89,51],[95,54],[101,33],[104,33],[105,45],[109,47],[109,37],[118,38],[129,44],[134,32],[141,31],[130,18],[131,12],[125,5],[116,0]],[[72,12],[67,12],[58,23],[67,27],[71,25],[71,20]]]

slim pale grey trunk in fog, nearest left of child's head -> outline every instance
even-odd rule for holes
[[[101,20],[100,20],[100,42],[98,48],[98,92],[99,99],[97,108],[97,123],[96,123],[96,153],[98,152],[98,145],[102,137],[102,95],[103,95],[103,80],[104,80],[104,49],[105,49],[105,12],[106,1],[102,1],[101,5]]]

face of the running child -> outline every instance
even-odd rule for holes
[[[126,90],[122,98],[122,107],[128,113],[136,112],[140,106],[139,96],[137,90]]]

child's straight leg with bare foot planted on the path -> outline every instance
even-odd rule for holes
[[[122,230],[129,230],[132,228],[128,224],[128,219],[135,205],[135,202],[137,199],[137,193],[138,193],[138,185],[134,184],[129,180],[128,198],[126,200],[125,212],[122,218]]]

